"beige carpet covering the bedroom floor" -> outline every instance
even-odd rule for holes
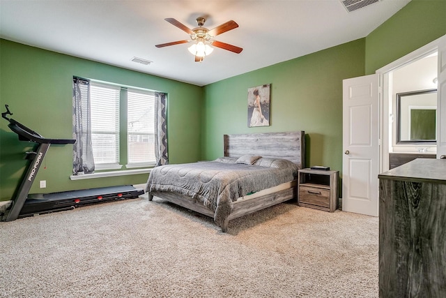
[[[229,223],[146,195],[0,223],[0,297],[378,297],[378,218],[285,203]]]

